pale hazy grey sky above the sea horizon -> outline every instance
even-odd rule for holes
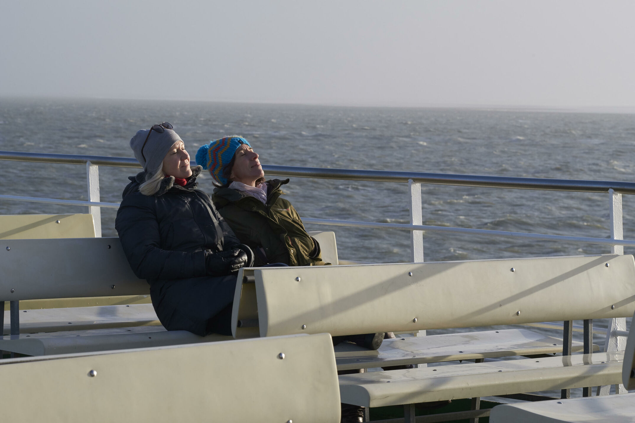
[[[635,107],[633,1],[0,0],[0,96]]]

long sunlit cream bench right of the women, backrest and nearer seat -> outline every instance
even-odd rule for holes
[[[232,316],[237,338],[414,332],[635,311],[632,256],[245,269],[241,277]],[[368,356],[364,366],[381,365]],[[380,407],[599,386],[619,383],[621,358],[596,353],[342,375],[340,391],[343,403]]]

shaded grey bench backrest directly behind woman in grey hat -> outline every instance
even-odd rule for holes
[[[13,292],[12,292],[13,291]],[[0,301],[147,295],[119,238],[5,240]]]

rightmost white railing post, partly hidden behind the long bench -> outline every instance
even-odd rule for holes
[[[622,228],[622,194],[613,190],[608,190],[608,194],[611,196],[611,239],[621,240],[624,239],[624,230]],[[613,245],[611,247],[613,254],[624,254],[624,245]],[[626,339],[617,335],[618,330],[626,330],[626,318],[614,318],[606,328],[606,342],[604,344],[604,351],[607,353],[613,351],[624,351],[626,348]],[[611,393],[611,386],[598,386],[598,395],[608,395]],[[615,385],[616,394],[627,393],[624,385]]]

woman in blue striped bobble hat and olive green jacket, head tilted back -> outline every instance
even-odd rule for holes
[[[258,154],[241,136],[227,136],[201,146],[196,163],[208,169],[217,188],[212,200],[243,244],[255,252],[255,265],[323,264],[318,242],[280,187],[289,179],[265,181]]]

